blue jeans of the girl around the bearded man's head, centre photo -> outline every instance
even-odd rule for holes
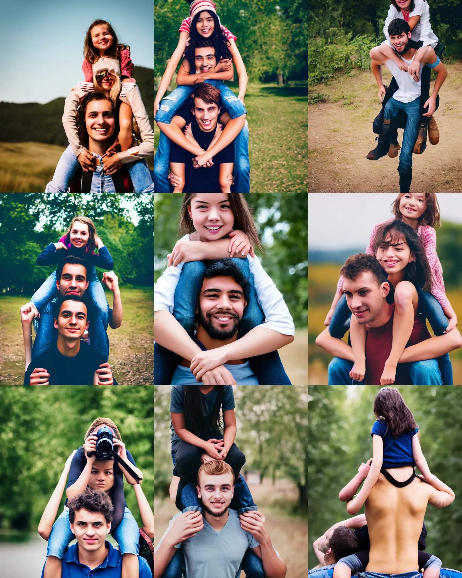
[[[252,328],[264,321],[262,308],[254,287],[254,276],[249,270],[248,259],[234,258],[245,277],[249,278],[249,295],[244,316],[239,324],[239,335],[242,337]],[[200,288],[204,280],[206,262],[191,261],[184,263],[180,279],[175,290],[173,316],[192,338],[196,328],[196,305]],[[260,385],[291,385],[277,351],[249,358],[250,365]],[[154,344],[154,384],[170,385],[176,366],[181,363],[180,355]]]

